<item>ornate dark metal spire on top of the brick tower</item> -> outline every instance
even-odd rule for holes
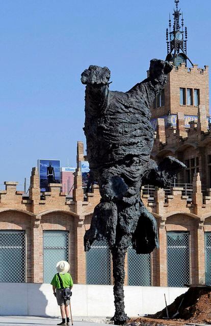
[[[174,0],[176,8],[173,12],[173,29],[171,29],[171,18],[169,15],[169,29],[166,31],[167,57],[166,60],[178,67],[180,63],[187,65],[187,60],[193,65],[187,56],[187,27],[183,31],[184,19],[183,13],[178,8],[179,0]],[[181,25],[180,25],[181,16]]]

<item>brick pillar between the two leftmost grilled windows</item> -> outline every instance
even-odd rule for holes
[[[43,283],[43,234],[41,218],[32,220],[32,283]]]

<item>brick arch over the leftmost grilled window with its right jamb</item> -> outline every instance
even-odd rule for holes
[[[4,209],[0,212],[1,230],[24,230],[27,240],[27,282],[32,282],[32,216],[20,209]]]

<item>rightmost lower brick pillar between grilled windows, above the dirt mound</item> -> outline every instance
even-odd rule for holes
[[[204,247],[204,229],[203,221],[199,221],[197,229],[197,270],[196,270],[196,282],[199,284],[205,283],[205,247]]]

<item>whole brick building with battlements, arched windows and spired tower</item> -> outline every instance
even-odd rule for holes
[[[208,67],[188,68],[186,30],[175,1],[168,31],[168,82],[151,107],[155,129],[152,158],[167,155],[187,165],[168,189],[145,185],[141,198],[157,220],[160,248],[137,255],[128,248],[125,285],[183,286],[211,281],[211,133]],[[191,61],[190,61],[191,63]],[[95,205],[97,185],[84,194],[82,142],[77,144],[72,198],[61,184],[49,184],[40,197],[39,175],[32,169],[29,197],[5,182],[0,191],[0,282],[48,283],[58,260],[70,262],[74,283],[112,284],[110,252],[104,241],[84,252],[83,237]]]

